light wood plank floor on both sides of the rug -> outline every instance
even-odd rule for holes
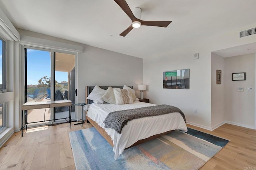
[[[61,124],[30,128],[21,137],[15,132],[0,149],[0,170],[75,170],[68,132],[91,127],[89,124]],[[214,131],[187,125],[231,140],[201,169],[255,170],[256,130],[225,124]]]

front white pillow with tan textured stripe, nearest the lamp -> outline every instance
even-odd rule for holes
[[[114,88],[116,105],[133,103],[132,92],[126,89]]]

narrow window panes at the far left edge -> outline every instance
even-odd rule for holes
[[[5,41],[0,38],[0,93],[6,89]],[[0,130],[6,127],[6,103],[0,103]]]

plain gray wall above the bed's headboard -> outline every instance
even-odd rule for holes
[[[143,59],[86,45],[78,56],[78,98],[85,101],[84,86],[133,86],[143,83]]]

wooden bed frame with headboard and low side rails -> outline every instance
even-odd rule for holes
[[[86,86],[86,92],[85,92],[85,95],[86,95],[86,98],[87,96],[90,94],[90,92],[92,91],[94,86]],[[102,89],[108,89],[109,86],[100,86],[100,88]],[[123,88],[122,86],[111,86],[113,88]],[[130,88],[132,88],[132,86],[129,86]],[[86,104],[90,104],[92,103],[92,101],[90,100],[86,100]],[[87,113],[87,112],[86,112]],[[90,122],[92,124],[92,126],[94,128],[96,128],[96,130],[98,130],[98,132],[108,141],[108,143],[110,143],[110,145],[113,147],[113,142],[111,140],[111,137],[107,134],[107,132],[104,130],[104,128],[100,127],[95,121],[93,121],[92,119],[90,119],[89,117],[87,117],[86,115],[86,122]],[[167,131],[167,132],[164,132],[164,133],[160,133],[160,134],[156,134],[154,136],[150,136],[148,138],[145,138],[145,139],[141,139],[141,140],[138,140],[137,142],[135,142],[134,144],[132,144],[132,146],[129,146],[128,148],[131,148],[133,146],[136,146],[138,144],[141,144],[143,142],[146,142],[148,140],[151,140],[151,139],[154,139],[154,138],[157,138],[159,136],[162,136],[163,134],[167,134],[167,133],[170,133],[172,130],[170,131]],[[126,148],[126,149],[128,149]]]

